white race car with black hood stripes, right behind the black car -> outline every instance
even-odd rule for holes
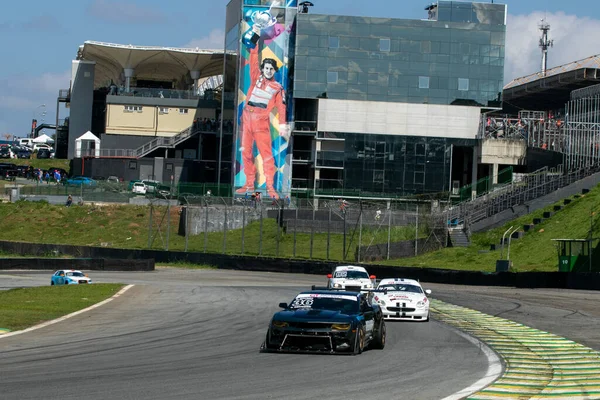
[[[373,302],[379,304],[383,317],[390,320],[429,321],[431,290],[423,290],[414,279],[382,279],[373,293]]]

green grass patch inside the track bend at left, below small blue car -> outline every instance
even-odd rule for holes
[[[105,300],[122,287],[102,283],[0,291],[0,329],[17,331],[62,317]]]

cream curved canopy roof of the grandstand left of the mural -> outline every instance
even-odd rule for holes
[[[137,79],[173,80],[199,70],[200,78],[223,73],[223,50],[134,46],[85,41],[79,46],[78,60],[96,62],[94,87],[123,80],[123,70],[133,68]]]

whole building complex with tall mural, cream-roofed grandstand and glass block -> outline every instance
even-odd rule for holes
[[[502,107],[505,5],[441,0],[418,20],[313,10],[231,0],[222,51],[86,42],[58,99],[64,153],[86,173],[269,198],[443,196],[504,166],[481,163],[478,138]],[[87,131],[94,160],[73,147]]]

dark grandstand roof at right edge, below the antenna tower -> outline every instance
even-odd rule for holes
[[[565,106],[573,90],[600,83],[600,55],[536,72],[504,86],[503,101],[509,107],[554,110]]]

